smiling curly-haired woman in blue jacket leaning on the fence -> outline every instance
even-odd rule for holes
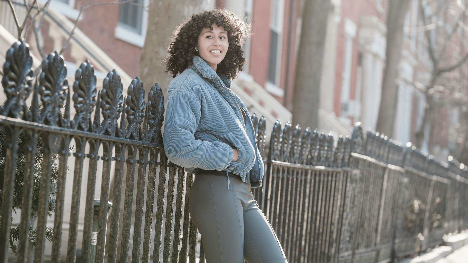
[[[175,31],[166,60],[174,80],[164,150],[196,174],[189,212],[207,263],[287,263],[251,191],[262,187],[263,161],[249,111],[230,89],[245,64],[248,32],[249,24],[224,9],[194,14]]]

